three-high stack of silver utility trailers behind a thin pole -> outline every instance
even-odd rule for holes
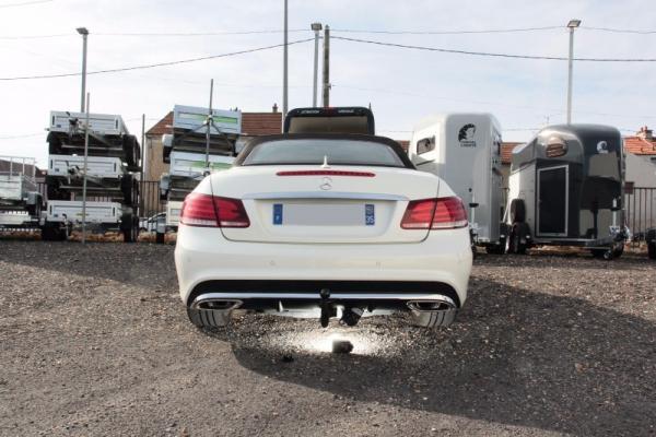
[[[134,173],[141,169],[139,142],[118,115],[90,114],[89,126],[85,125],[85,114],[50,113],[48,202],[43,239],[66,239],[72,225],[82,222],[85,210],[85,222],[92,228],[118,229],[126,243],[136,241],[139,180]]]

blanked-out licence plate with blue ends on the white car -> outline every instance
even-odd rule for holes
[[[274,226],[375,226],[373,203],[273,203]]]

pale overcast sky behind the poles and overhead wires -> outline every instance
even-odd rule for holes
[[[22,4],[17,3],[31,3]],[[570,19],[583,20],[575,56],[656,58],[649,0],[413,1],[289,0],[290,42],[311,38],[312,22],[333,36],[403,45],[513,55],[567,56]],[[89,71],[220,55],[280,44],[282,33],[213,36],[129,36],[130,33],[225,33],[280,31],[283,0],[137,1],[0,0],[0,78],[79,72],[86,26]],[[520,33],[394,35],[361,31],[484,31],[562,26]],[[586,28],[586,26],[588,28]],[[341,32],[339,31],[341,29]],[[47,38],[22,36],[61,35]],[[379,134],[408,139],[423,117],[444,111],[489,111],[505,141],[528,140],[546,123],[565,120],[567,63],[478,57],[383,47],[332,39],[332,106],[372,105]],[[290,108],[312,105],[314,44],[293,45]],[[612,125],[624,134],[656,125],[656,62],[575,62],[574,122]],[[147,129],[175,104],[207,106],[214,79],[214,106],[269,111],[282,106],[282,48],[242,56],[95,74],[87,79],[93,113],[120,114],[132,133]],[[50,110],[79,110],[80,76],[0,81],[0,154],[47,161],[45,128]]]

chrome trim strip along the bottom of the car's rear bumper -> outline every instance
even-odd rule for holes
[[[320,300],[321,297],[319,293],[206,293],[194,299],[191,304],[191,308],[198,306],[198,304],[208,300],[244,300],[244,299],[317,299]],[[366,300],[366,299],[376,299],[376,300],[434,300],[434,302],[443,302],[445,304],[450,305],[452,307],[456,307],[454,300],[445,296],[443,294],[401,294],[401,293],[331,293],[330,299],[340,299],[340,300]]]

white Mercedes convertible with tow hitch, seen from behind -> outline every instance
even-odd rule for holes
[[[467,297],[467,213],[399,144],[364,134],[253,140],[187,196],[175,263],[198,327],[232,311],[319,318],[409,311],[448,326]]]

